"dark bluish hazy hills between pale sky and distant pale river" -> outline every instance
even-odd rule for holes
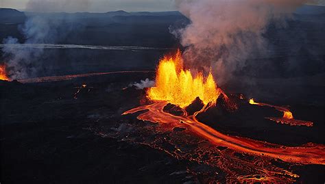
[[[187,25],[189,20],[180,12],[20,12],[0,8],[0,43],[9,36],[25,42],[22,26],[29,17],[40,16],[50,31],[49,43],[129,45],[145,47],[173,47],[176,39],[169,27]],[[34,25],[29,25],[34,26]],[[55,33],[60,34],[55,34]],[[54,35],[51,35],[54,34]],[[48,43],[48,40],[44,42]]]

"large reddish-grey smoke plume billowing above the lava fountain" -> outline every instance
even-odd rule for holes
[[[284,23],[283,16],[306,0],[176,0],[178,9],[191,20],[173,31],[186,47],[188,67],[213,69],[218,83],[231,79],[245,60],[265,55],[263,34],[270,21]]]

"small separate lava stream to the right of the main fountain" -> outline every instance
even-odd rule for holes
[[[250,104],[252,105],[258,105],[258,106],[267,106],[267,107],[273,107],[274,109],[278,111],[283,112],[282,118],[277,118],[277,117],[269,117],[267,119],[282,123],[282,124],[289,124],[291,126],[306,126],[306,127],[313,127],[313,122],[310,121],[304,121],[304,120],[295,120],[293,118],[292,112],[285,108],[285,107],[280,107],[276,105],[269,105],[267,103],[256,103],[254,99],[250,99]]]

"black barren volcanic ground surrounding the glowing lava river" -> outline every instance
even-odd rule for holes
[[[306,160],[295,162],[280,155],[277,159],[263,152],[245,153],[230,144],[217,146],[197,135],[187,122],[184,124],[185,119],[177,122],[175,117],[181,114],[172,105],[160,113],[174,117],[176,121],[170,123],[137,120],[143,111],[121,115],[148,103],[143,101],[145,90],[130,83],[153,77],[154,72],[141,72],[40,83],[1,81],[3,182],[324,181],[324,165],[320,165],[324,156],[309,159],[300,155]],[[239,111],[230,115],[219,100],[213,111],[198,116],[202,126],[234,139],[269,142],[265,148],[305,145],[308,150],[324,144],[324,107],[292,105],[293,116],[298,111],[309,112],[296,117],[312,121],[313,127],[290,126],[265,118],[281,117],[276,109],[251,105],[247,98],[239,97],[229,97],[239,101]],[[195,109],[198,104],[194,102],[191,107]],[[324,148],[319,149],[323,154]],[[317,161],[320,164],[315,164]]]

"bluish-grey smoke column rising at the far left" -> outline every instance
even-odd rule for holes
[[[58,38],[56,28],[59,21],[51,21],[49,17],[30,16],[24,25],[19,27],[25,37],[24,44],[54,43]],[[3,40],[3,53],[10,68],[8,74],[11,79],[25,79],[35,77],[42,67],[44,48],[38,49],[22,48],[16,49],[14,44],[20,44],[17,38],[8,37]]]

